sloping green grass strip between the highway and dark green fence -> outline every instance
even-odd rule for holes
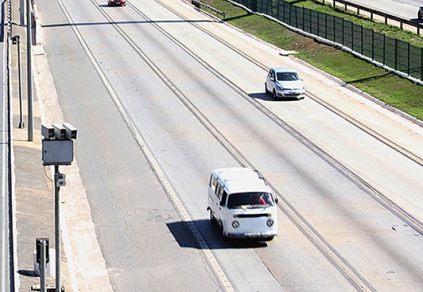
[[[423,120],[423,87],[375,67],[351,54],[300,36],[282,25],[262,16],[248,14],[245,10],[224,0],[203,0],[226,13],[225,21],[282,49],[295,50],[298,58],[336,76],[371,96],[401,111]],[[312,1],[300,1],[307,3]],[[320,5],[322,6],[322,5]],[[327,8],[324,8],[327,9]],[[352,17],[351,14],[348,14]],[[356,17],[360,21],[365,19]],[[372,21],[368,21],[373,23]],[[389,27],[389,25],[386,25]],[[388,30],[388,28],[384,28]],[[391,28],[389,28],[391,29]],[[392,28],[393,30],[394,28]],[[415,38],[417,36],[414,34]]]

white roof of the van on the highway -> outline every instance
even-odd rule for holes
[[[251,168],[216,168],[211,171],[228,193],[270,192],[264,179]]]

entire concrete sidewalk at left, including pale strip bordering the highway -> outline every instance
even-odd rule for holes
[[[26,30],[20,25],[19,1],[12,0],[12,35],[21,39],[21,93],[23,98],[23,121],[27,116],[27,56]],[[35,13],[37,18],[38,13]],[[33,18],[34,21],[34,18]],[[34,272],[34,249],[36,238],[50,238],[54,247],[54,172],[43,167],[41,155],[41,123],[63,123],[63,115],[48,67],[47,56],[41,45],[39,20],[32,23],[32,76],[33,76],[33,141],[28,142],[28,128],[19,128],[19,78],[17,46],[12,47],[12,148],[14,156],[14,226],[15,291],[30,291],[40,284]],[[40,100],[42,98],[42,100]],[[61,166],[67,186],[60,189],[61,199],[61,286],[64,291],[112,291],[105,260],[96,240],[90,206],[79,176],[74,158],[72,166]],[[54,252],[51,252],[54,254]],[[68,260],[67,256],[70,256]],[[75,265],[74,265],[75,262]],[[50,263],[55,266],[54,260]],[[75,269],[75,266],[78,269]],[[54,269],[53,269],[54,270]],[[48,277],[49,287],[54,287],[55,273]],[[50,291],[50,289],[48,289]],[[51,290],[53,291],[53,290]]]

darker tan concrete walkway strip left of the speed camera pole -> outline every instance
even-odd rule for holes
[[[50,248],[54,248],[54,185],[50,168],[44,168],[41,160],[41,121],[39,92],[33,87],[33,141],[28,142],[27,128],[27,55],[26,29],[20,23],[19,0],[12,0],[12,35],[20,36],[21,48],[21,93],[24,128],[19,128],[19,64],[17,45],[12,52],[12,144],[14,155],[15,185],[15,287],[16,291],[30,291],[39,285],[40,278],[34,272],[35,240],[39,237],[50,238]],[[33,47],[33,54],[38,48]],[[54,261],[50,263],[54,266]],[[62,286],[71,291],[68,278],[67,260],[62,257]],[[54,275],[54,272],[52,273]],[[54,278],[48,277],[49,287],[54,287]]]

